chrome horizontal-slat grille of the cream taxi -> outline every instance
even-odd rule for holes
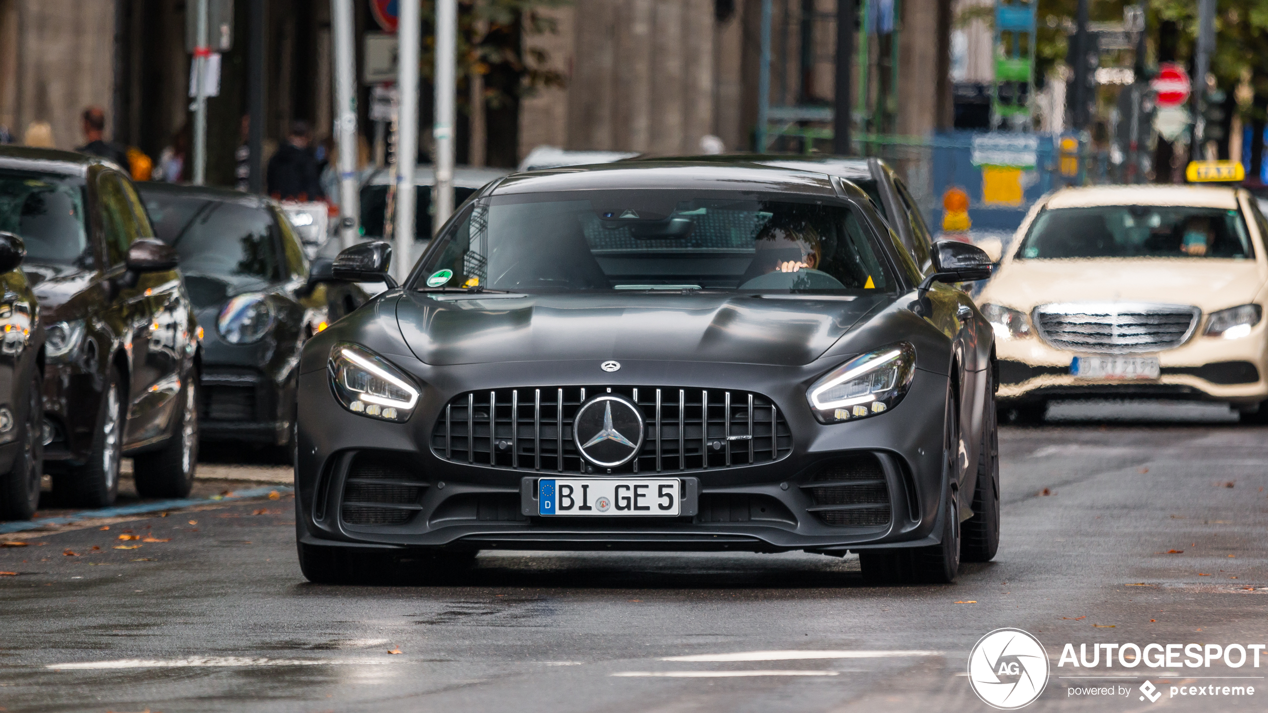
[[[1033,320],[1059,350],[1156,352],[1183,344],[1201,314],[1172,304],[1046,304],[1035,308]]]

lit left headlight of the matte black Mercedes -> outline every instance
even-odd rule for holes
[[[403,422],[418,403],[413,381],[365,347],[340,342],[326,366],[335,398],[355,414]]]

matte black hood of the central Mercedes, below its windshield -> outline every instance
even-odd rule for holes
[[[413,355],[437,366],[583,358],[800,366],[894,299],[412,294],[397,303],[397,322]]]

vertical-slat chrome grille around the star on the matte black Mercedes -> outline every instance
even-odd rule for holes
[[[643,412],[647,437],[607,472],[667,472],[776,461],[792,451],[787,422],[749,391],[666,386],[552,386],[472,391],[449,401],[431,432],[443,458],[505,469],[595,472],[572,439],[587,395],[620,394]]]

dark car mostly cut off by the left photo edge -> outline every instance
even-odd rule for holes
[[[43,475],[44,332],[39,305],[18,266],[27,255],[18,233],[38,233],[38,213],[23,210],[27,180],[0,172],[0,519],[30,519]],[[49,189],[56,190],[56,189]]]

